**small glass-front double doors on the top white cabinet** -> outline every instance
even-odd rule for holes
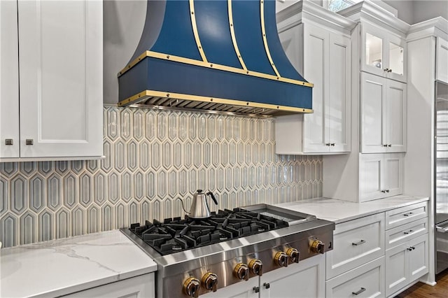
[[[403,38],[363,22],[361,70],[406,82],[406,43]]]

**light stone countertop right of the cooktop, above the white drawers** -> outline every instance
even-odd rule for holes
[[[346,222],[363,216],[380,213],[403,206],[428,201],[428,197],[415,197],[402,194],[385,199],[353,203],[338,199],[316,198],[290,203],[276,204],[275,206],[288,208],[293,211],[316,215],[322,220],[330,220],[335,223]]]

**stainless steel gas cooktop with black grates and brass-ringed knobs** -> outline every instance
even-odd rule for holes
[[[158,263],[158,297],[198,297],[332,249],[333,222],[267,204],[121,231]]]

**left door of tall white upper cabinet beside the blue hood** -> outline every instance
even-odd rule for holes
[[[328,102],[328,31],[305,24],[304,26],[304,76],[314,84],[313,113],[304,115],[304,152],[328,151],[328,124],[325,104]]]

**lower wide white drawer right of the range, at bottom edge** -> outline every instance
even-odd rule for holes
[[[384,297],[384,257],[326,282],[325,297]]]

